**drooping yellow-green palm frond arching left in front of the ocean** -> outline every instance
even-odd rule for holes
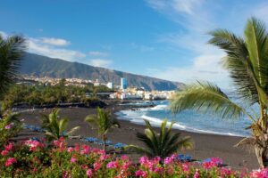
[[[185,109],[205,113],[212,112],[222,118],[239,118],[246,114],[254,119],[245,109],[230,101],[229,97],[218,86],[208,82],[188,85],[186,90],[177,93],[172,100],[171,109],[173,113]]]

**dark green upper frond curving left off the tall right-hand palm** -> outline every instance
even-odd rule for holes
[[[226,29],[217,29],[209,34],[213,37],[208,43],[220,47],[227,53],[227,56],[222,59],[222,64],[229,70],[239,97],[250,101],[251,104],[258,102],[257,83],[252,65],[248,61],[247,44],[244,39]]]

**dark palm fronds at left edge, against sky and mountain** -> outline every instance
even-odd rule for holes
[[[22,36],[0,35],[0,98],[13,84],[21,66],[21,57],[26,50],[25,39]]]

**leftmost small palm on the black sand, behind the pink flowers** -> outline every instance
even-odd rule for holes
[[[69,119],[64,117],[59,120],[59,111],[59,109],[54,109],[49,115],[41,117],[42,128],[46,131],[48,141],[58,140],[62,136],[68,137],[80,128],[80,126],[75,126],[67,131]]]

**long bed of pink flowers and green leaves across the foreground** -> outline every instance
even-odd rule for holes
[[[63,137],[48,148],[46,142],[9,142],[0,150],[1,177],[266,177],[268,169],[238,172],[221,167],[221,159],[205,163],[180,162],[178,155],[164,158],[139,158],[134,165],[127,156],[106,154],[104,150],[76,144],[67,147]]]

